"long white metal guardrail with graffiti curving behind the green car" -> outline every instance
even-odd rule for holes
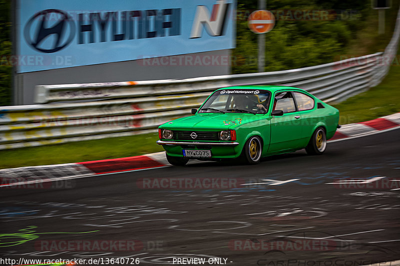
[[[234,85],[293,86],[325,102],[340,102],[380,83],[399,36],[400,9],[383,53],[275,72],[36,86],[35,101],[41,104],[0,107],[0,150],[154,132],[166,121],[190,115],[209,92]]]

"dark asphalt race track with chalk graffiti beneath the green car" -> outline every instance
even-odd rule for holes
[[[399,260],[399,133],[333,142],[322,156],[298,151],[255,166],[205,162],[45,183],[43,188],[3,188],[1,258],[124,257],[139,258],[141,265],[168,265],[173,258],[195,257],[205,258],[205,265],[209,258],[224,258],[227,265],[242,266]],[[218,188],[217,182],[212,189],[193,189],[188,183],[160,189],[154,178],[226,178],[232,183],[228,188]],[[242,185],[252,183],[263,184]],[[91,242],[68,250],[61,240]],[[95,246],[96,241],[125,240],[135,241],[134,248]]]

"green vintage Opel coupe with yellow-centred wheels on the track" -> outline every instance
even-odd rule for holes
[[[214,91],[192,116],[158,127],[172,165],[189,159],[261,157],[300,149],[322,154],[336,131],[339,111],[305,90],[285,86],[234,86]]]

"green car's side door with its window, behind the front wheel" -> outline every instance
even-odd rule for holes
[[[275,92],[272,111],[282,110],[282,116],[271,116],[271,139],[268,152],[279,152],[301,147],[301,118],[290,91]]]

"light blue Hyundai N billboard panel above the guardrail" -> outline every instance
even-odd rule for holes
[[[235,0],[19,0],[18,72],[234,48]]]

